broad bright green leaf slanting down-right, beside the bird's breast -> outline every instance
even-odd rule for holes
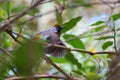
[[[85,49],[84,43],[77,36],[65,34],[63,37],[66,40],[66,42],[74,48]]]

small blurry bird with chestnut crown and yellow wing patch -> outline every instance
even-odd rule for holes
[[[45,45],[45,53],[53,57],[63,57],[66,50],[60,47],[55,47],[52,45],[65,46],[60,40],[60,32],[64,29],[64,26],[55,24],[53,27],[46,31],[42,31],[35,35],[36,40],[46,40],[48,44]]]

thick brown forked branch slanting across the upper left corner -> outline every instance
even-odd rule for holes
[[[41,0],[36,1],[32,6],[25,9],[23,12],[21,12],[18,15],[14,16],[13,18],[7,20],[3,25],[0,26],[0,32],[6,31],[16,42],[21,44],[21,42],[12,34],[12,29],[10,29],[11,28],[10,24],[15,22],[17,19],[21,18],[25,14],[27,14],[29,11],[31,11],[36,6],[38,6],[40,4],[40,2],[41,2]]]

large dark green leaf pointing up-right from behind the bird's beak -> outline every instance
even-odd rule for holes
[[[68,22],[64,23],[62,26],[64,26],[65,28],[62,29],[61,33],[64,33],[70,29],[72,29],[76,24],[77,22],[79,22],[81,20],[82,17],[76,17],[76,18],[73,18],[71,20],[69,20]]]

